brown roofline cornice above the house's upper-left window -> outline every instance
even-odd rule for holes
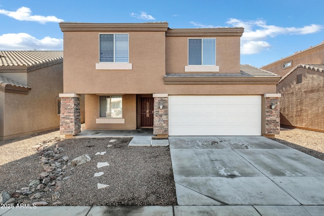
[[[61,31],[167,31],[167,22],[149,23],[73,23],[60,22]]]

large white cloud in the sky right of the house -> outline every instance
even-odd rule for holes
[[[242,21],[230,18],[227,24],[233,27],[244,27],[241,36],[241,54],[256,54],[268,50],[271,45],[267,38],[282,34],[312,34],[324,29],[324,26],[311,24],[301,28],[267,25],[264,20]]]

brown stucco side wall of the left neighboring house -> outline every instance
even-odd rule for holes
[[[57,97],[63,92],[63,64],[27,73],[28,95],[4,95],[2,139],[11,139],[52,128],[58,128]]]

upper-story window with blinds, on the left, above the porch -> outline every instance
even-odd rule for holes
[[[128,34],[100,34],[100,62],[129,62]]]

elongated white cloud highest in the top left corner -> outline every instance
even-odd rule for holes
[[[6,15],[8,17],[14,18],[20,21],[35,21],[39,23],[47,23],[47,22],[63,22],[64,20],[58,19],[55,16],[39,16],[39,15],[31,15],[30,8],[21,7],[17,11],[6,11],[0,10],[0,14]]]

